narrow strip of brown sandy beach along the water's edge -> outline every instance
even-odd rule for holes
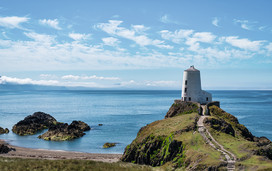
[[[117,162],[122,154],[98,154],[98,153],[83,153],[83,152],[71,152],[71,151],[58,151],[58,150],[45,150],[45,149],[32,149],[12,146],[0,140],[0,144],[5,144],[10,148],[15,148],[16,151],[10,151],[6,154],[0,154],[2,157],[16,157],[16,158],[31,158],[31,159],[80,159],[80,160],[94,160],[102,162]]]

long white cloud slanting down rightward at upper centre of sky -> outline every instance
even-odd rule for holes
[[[123,21],[109,20],[108,23],[100,23],[96,27],[100,28],[101,30],[105,31],[108,34],[120,36],[129,40],[133,40],[135,41],[135,43],[137,43],[140,46],[153,45],[159,48],[166,48],[166,49],[173,48],[172,46],[165,45],[164,41],[157,40],[157,39],[153,40],[148,38],[145,34],[138,34],[135,31],[135,26],[132,26],[132,29],[119,27],[119,25],[122,22]],[[145,28],[143,25],[141,26],[138,25],[136,29],[138,30],[140,29],[141,31],[143,31],[147,28]]]

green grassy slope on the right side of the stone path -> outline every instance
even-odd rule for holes
[[[236,166],[245,170],[265,170],[272,168],[272,161],[265,158],[264,156],[257,156],[256,151],[261,148],[257,145],[257,142],[253,141],[254,136],[248,131],[248,129],[239,124],[236,117],[226,113],[222,109],[211,106],[210,112],[212,118],[223,119],[225,122],[231,125],[235,131],[235,136],[227,133],[222,133],[214,128],[214,125],[207,126],[212,136],[224,146],[225,149],[234,153],[238,161]]]

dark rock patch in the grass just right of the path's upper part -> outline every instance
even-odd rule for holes
[[[224,132],[226,134],[230,134],[235,137],[235,131],[231,124],[227,123],[223,119],[215,119],[215,118],[206,118],[204,120],[206,125],[210,125],[213,129]]]

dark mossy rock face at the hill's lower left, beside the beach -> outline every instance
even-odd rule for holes
[[[185,157],[182,152],[182,142],[173,140],[172,136],[150,135],[140,144],[127,146],[121,160],[151,166],[161,166],[168,161],[178,164]]]

